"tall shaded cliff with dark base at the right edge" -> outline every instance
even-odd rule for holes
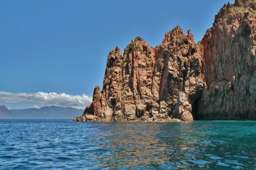
[[[256,119],[256,1],[224,5],[202,40],[199,119]]]

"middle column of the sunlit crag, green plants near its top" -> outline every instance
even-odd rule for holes
[[[154,48],[142,37],[136,37],[126,48],[122,70],[122,108],[128,119],[150,117],[151,82],[154,68]]]

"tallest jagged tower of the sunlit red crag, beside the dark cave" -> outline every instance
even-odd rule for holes
[[[178,103],[180,92],[184,92],[186,100],[193,105],[203,90],[200,48],[194,42],[190,30],[186,36],[177,26],[165,34],[162,44],[156,47],[156,51],[154,115],[157,115],[157,118],[173,117],[172,113]],[[192,121],[192,115],[189,117],[187,120]],[[180,116],[177,117],[175,114],[174,118],[180,119]]]

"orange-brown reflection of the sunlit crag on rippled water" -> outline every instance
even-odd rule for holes
[[[110,132],[108,145],[103,144],[111,154],[98,157],[108,167],[158,167],[167,163],[174,165],[179,160],[179,167],[186,167],[189,165],[186,158],[197,152],[196,140],[184,134],[192,131],[189,123],[185,128],[175,123],[174,126],[154,122],[136,123],[138,126],[134,126],[134,122],[117,124]],[[172,128],[172,133],[168,128]]]

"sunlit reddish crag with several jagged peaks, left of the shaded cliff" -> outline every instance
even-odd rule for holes
[[[107,59],[103,88],[78,121],[193,121],[203,91],[200,46],[177,26],[156,48],[136,37]],[[178,108],[178,109],[175,109]],[[175,111],[175,114],[174,114]]]

